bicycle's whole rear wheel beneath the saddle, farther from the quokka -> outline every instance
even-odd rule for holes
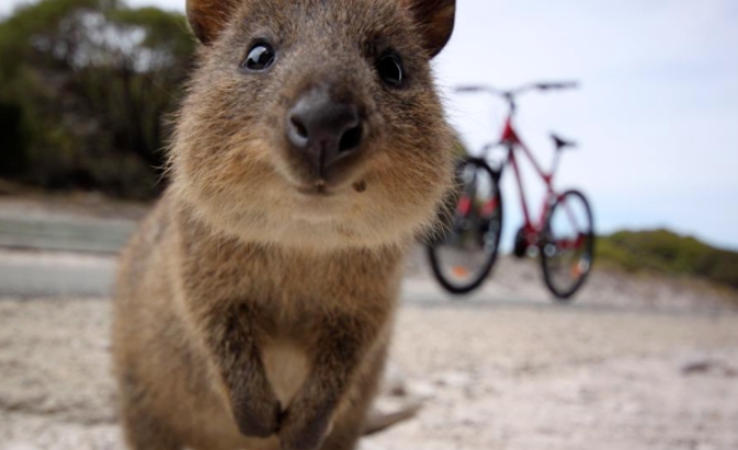
[[[554,203],[541,242],[546,286],[567,300],[584,284],[594,258],[594,226],[589,201],[579,191],[567,191]]]

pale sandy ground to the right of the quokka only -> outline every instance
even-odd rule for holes
[[[406,309],[420,417],[366,449],[738,449],[738,319]]]

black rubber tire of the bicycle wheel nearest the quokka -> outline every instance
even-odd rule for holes
[[[463,295],[463,293],[468,293],[475,289],[477,289],[481,284],[485,281],[487,276],[489,276],[495,262],[497,261],[497,255],[499,253],[499,245],[500,245],[500,236],[502,234],[502,214],[503,214],[503,208],[502,208],[502,196],[500,194],[500,188],[499,188],[499,174],[496,173],[488,164],[485,162],[485,160],[480,158],[473,158],[473,157],[467,157],[462,160],[462,162],[458,164],[459,169],[465,168],[468,164],[476,165],[477,168],[484,170],[487,172],[489,175],[489,180],[492,183],[492,186],[490,186],[491,189],[495,189],[496,193],[496,199],[497,199],[497,208],[499,209],[499,217],[498,219],[498,231],[497,231],[497,236],[495,238],[495,250],[488,254],[487,261],[485,264],[481,266],[481,270],[478,272],[477,276],[473,277],[468,282],[465,284],[457,284],[454,282],[453,280],[450,280],[446,278],[443,268],[441,267],[441,262],[440,257],[438,255],[438,250],[439,250],[439,241],[436,240],[435,242],[429,244],[427,246],[428,251],[428,258],[431,265],[431,269],[433,272],[433,276],[435,279],[439,281],[439,284],[449,292],[454,293],[454,295]],[[457,172],[459,173],[459,172]],[[456,214],[456,212],[454,212]]]

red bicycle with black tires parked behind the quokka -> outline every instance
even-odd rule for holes
[[[502,233],[502,196],[499,183],[503,170],[511,165],[520,192],[523,224],[515,234],[513,254],[541,256],[544,281],[558,300],[567,300],[583,285],[594,257],[594,227],[587,197],[579,191],[558,192],[553,180],[564,149],[576,147],[554,134],[554,161],[545,172],[513,127],[515,99],[530,91],[577,88],[575,82],[533,83],[502,91],[491,86],[459,86],[456,92],[482,92],[501,96],[508,114],[498,142],[486,145],[481,157],[465,157],[457,166],[456,189],[446,203],[441,220],[442,235],[428,245],[428,256],[435,278],[452,293],[467,293],[478,288],[495,265]],[[507,153],[496,168],[487,163],[490,151],[502,147]],[[531,161],[546,187],[538,220],[531,219],[515,150]]]

